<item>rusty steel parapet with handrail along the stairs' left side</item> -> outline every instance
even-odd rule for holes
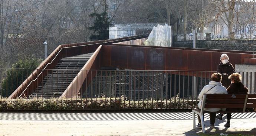
[[[75,56],[80,54],[85,54],[89,52],[82,52],[84,51],[81,46],[89,45],[89,44],[94,44],[89,48],[87,51],[94,52],[99,44],[112,44],[116,42],[124,42],[127,40],[135,40],[135,39],[141,39],[145,38],[147,36],[132,36],[132,37],[124,37],[124,38],[119,38],[119,39],[111,39],[111,40],[101,40],[101,41],[93,41],[93,42],[83,42],[83,43],[74,43],[74,44],[63,44],[59,45],[48,57],[45,61],[43,61],[37,69],[54,69],[56,64],[59,62],[60,59],[63,57],[70,57],[70,56]],[[72,47],[80,46],[78,48],[72,49]],[[63,48],[69,48],[68,50],[62,50]],[[72,50],[71,50],[72,49]],[[35,70],[33,73],[35,73],[34,76],[30,74],[30,76],[24,80],[24,82],[9,96],[9,98],[16,98],[19,97],[22,92],[24,92],[24,86],[27,87],[26,91],[27,92],[33,92],[39,85],[40,81],[42,78],[46,76],[46,74],[39,72],[38,70]],[[35,83],[32,82],[34,80]],[[32,85],[33,84],[33,85]],[[24,92],[25,93],[25,92]],[[30,94],[28,94],[30,95]]]

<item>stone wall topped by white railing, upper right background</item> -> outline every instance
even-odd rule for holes
[[[196,48],[252,51],[252,44],[256,45],[256,40],[197,40]],[[173,42],[172,46],[193,48],[193,41]]]

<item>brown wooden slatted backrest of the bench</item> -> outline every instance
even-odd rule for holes
[[[243,109],[256,107],[256,94],[204,94],[202,108]],[[241,111],[242,112],[242,111]]]

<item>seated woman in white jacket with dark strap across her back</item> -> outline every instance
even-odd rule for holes
[[[209,94],[227,94],[227,89],[222,86],[220,83],[222,79],[222,75],[220,73],[213,73],[211,75],[211,82],[209,82],[208,85],[204,86],[204,88],[201,90],[200,94],[198,95],[198,99],[200,99],[200,102],[198,103],[198,108],[201,108],[201,100],[203,99],[203,94],[204,93],[209,93]],[[206,111],[209,111],[210,113],[210,127],[214,128],[214,123],[215,123],[215,116],[216,112],[219,110],[225,110],[225,109],[220,109],[220,108],[208,108],[204,109]],[[198,115],[198,125],[197,128],[202,128],[201,126],[201,119],[200,116]]]

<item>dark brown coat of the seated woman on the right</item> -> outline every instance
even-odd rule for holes
[[[248,88],[243,85],[243,83],[232,83],[229,88],[227,88],[228,94],[247,94]]]

